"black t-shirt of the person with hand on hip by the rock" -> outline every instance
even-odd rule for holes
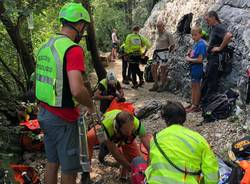
[[[212,27],[210,35],[209,35],[208,52],[210,52],[210,50],[213,47],[219,47],[221,45],[226,33],[227,33],[227,29],[225,25],[223,24],[217,24]]]

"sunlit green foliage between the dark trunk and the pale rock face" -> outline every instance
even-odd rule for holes
[[[149,16],[150,0],[130,1],[132,5],[132,24],[143,27]],[[93,14],[98,46],[102,51],[111,50],[112,29],[117,29],[119,39],[124,41],[131,30],[127,20],[127,0],[93,0]]]

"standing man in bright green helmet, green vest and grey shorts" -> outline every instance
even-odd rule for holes
[[[45,183],[56,184],[59,166],[62,183],[76,183],[80,171],[77,103],[93,113],[94,106],[83,85],[84,52],[78,45],[90,17],[80,3],[68,3],[59,13],[62,29],[37,53],[36,98],[38,120],[44,132]]]

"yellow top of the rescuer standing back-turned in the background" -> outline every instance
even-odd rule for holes
[[[144,36],[131,33],[126,37],[124,49],[126,54],[142,54],[143,48],[150,48],[150,46],[150,41]]]

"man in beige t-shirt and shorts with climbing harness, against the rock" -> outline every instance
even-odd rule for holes
[[[168,54],[174,50],[175,42],[173,35],[165,30],[165,25],[162,21],[157,22],[157,29],[158,38],[156,39],[156,48],[153,54],[153,64],[151,67],[154,84],[149,91],[162,92],[165,89],[167,81]]]

